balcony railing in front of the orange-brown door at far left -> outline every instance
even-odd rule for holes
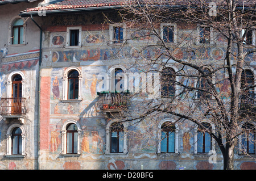
[[[2,116],[25,115],[27,112],[25,100],[26,98],[1,98],[0,114]]]

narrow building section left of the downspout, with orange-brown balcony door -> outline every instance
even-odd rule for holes
[[[24,8],[38,1],[0,2],[1,169],[37,169],[40,30]]]

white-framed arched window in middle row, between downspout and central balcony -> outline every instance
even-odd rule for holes
[[[82,73],[79,68],[69,67],[63,75],[63,100],[81,100]]]

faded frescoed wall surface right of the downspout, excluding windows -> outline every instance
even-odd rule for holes
[[[109,46],[108,26],[97,17],[100,14],[84,16],[56,16],[47,19],[45,25],[45,39],[43,46],[42,63],[42,90],[41,90],[41,118],[40,118],[40,169],[179,169],[185,166],[187,169],[222,169],[222,155],[217,149],[217,163],[209,163],[210,155],[194,154],[194,127],[192,123],[184,121],[179,128],[178,153],[158,154],[158,125],[150,127],[153,131],[147,132],[148,125],[153,121],[146,120],[139,125],[130,124],[127,127],[127,154],[106,153],[106,125],[112,118],[106,118],[104,113],[96,106],[99,81],[93,79],[93,75],[108,73],[114,65],[122,65],[125,68],[127,62],[138,58],[137,51],[143,43],[152,43],[154,38],[132,38],[124,47]],[[94,22],[90,18],[96,17]],[[76,20],[75,20],[76,19]],[[82,21],[82,22],[81,22]],[[91,24],[92,23],[92,24]],[[82,25],[81,25],[82,24]],[[81,26],[82,46],[80,48],[65,48],[66,31],[69,26]],[[195,27],[180,28],[180,37],[189,41],[189,35],[195,31]],[[126,30],[126,35],[136,37]],[[145,32],[141,32],[145,33]],[[57,37],[60,43],[56,44]],[[128,37],[128,38],[129,38]],[[216,46],[199,49],[193,58],[202,58],[205,61],[222,60],[225,57],[225,43],[222,39],[216,40]],[[186,58],[189,54],[181,49],[175,49],[176,56]],[[156,56],[154,49],[144,51],[144,56]],[[163,57],[163,61],[164,61]],[[256,54],[252,54],[247,60],[255,68]],[[236,61],[236,60],[234,60]],[[171,62],[172,63],[172,62]],[[81,101],[68,102],[63,98],[63,76],[67,68],[74,66],[81,70]],[[213,65],[214,66],[214,65]],[[179,69],[179,66],[177,66]],[[137,71],[137,70],[134,70]],[[218,78],[223,78],[223,72],[218,73]],[[59,82],[53,90],[53,82]],[[93,82],[94,81],[94,82]],[[191,82],[192,84],[193,82]],[[194,82],[195,83],[195,82]],[[225,83],[219,85],[224,99],[229,97],[229,87]],[[56,87],[55,87],[56,88]],[[136,104],[134,102],[134,104]],[[131,110],[132,110],[131,106]],[[188,108],[185,103],[180,109]],[[174,117],[162,115],[162,119]],[[61,129],[66,121],[75,120],[81,127],[81,155],[68,156],[61,154]],[[98,137],[95,137],[98,133]],[[93,143],[96,140],[96,144]],[[244,155],[235,156],[235,169],[244,169],[249,165],[255,168],[255,162]]]

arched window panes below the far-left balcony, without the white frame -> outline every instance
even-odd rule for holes
[[[11,154],[22,154],[22,130],[18,127],[11,133]]]

